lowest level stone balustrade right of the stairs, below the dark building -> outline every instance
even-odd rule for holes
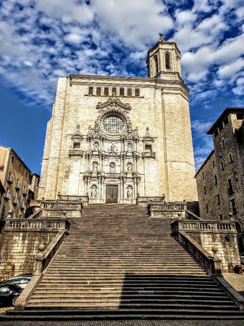
[[[177,230],[200,230],[200,231],[236,231],[233,221],[216,220],[176,220],[171,224],[172,232]]]

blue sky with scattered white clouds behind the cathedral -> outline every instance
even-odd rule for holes
[[[243,0],[0,0],[0,143],[40,173],[58,76],[146,77],[157,31],[182,52],[195,163],[227,106],[243,106]]]

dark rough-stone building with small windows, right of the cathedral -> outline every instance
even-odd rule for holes
[[[244,108],[226,108],[211,126],[214,149],[197,171],[200,216],[228,219],[233,213],[244,252]]]

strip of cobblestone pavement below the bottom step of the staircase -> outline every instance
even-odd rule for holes
[[[241,320],[0,321],[0,326],[244,326]]]

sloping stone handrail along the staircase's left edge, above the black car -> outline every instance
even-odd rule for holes
[[[27,305],[28,300],[33,295],[34,290],[37,285],[40,283],[42,275],[45,273],[49,263],[55,257],[58,249],[63,243],[65,237],[69,234],[66,230],[61,230],[56,237],[51,241],[51,243],[47,246],[47,248],[42,252],[40,252],[35,258],[35,269],[33,276],[30,282],[27,284],[25,289],[20,293],[20,296],[16,300],[15,310],[23,310]]]

